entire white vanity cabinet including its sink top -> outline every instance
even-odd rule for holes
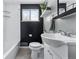
[[[44,33],[44,59],[76,59],[76,38],[60,33]]]

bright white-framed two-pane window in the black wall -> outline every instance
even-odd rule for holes
[[[22,21],[39,21],[39,9],[22,9]]]

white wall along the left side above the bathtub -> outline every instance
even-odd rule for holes
[[[20,41],[20,9],[17,4],[4,3],[4,56]],[[5,15],[9,17],[5,17]],[[9,55],[10,56],[10,55]],[[6,58],[6,57],[5,57]]]

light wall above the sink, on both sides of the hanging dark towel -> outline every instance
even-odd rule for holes
[[[50,31],[51,22],[51,16],[44,17],[44,30],[47,32]],[[56,19],[55,31],[58,32],[59,30],[76,34],[76,14]]]

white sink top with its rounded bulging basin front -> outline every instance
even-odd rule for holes
[[[59,33],[44,33],[41,35],[41,37],[44,43],[52,47],[60,47],[67,43],[76,42],[75,38],[63,36]]]

